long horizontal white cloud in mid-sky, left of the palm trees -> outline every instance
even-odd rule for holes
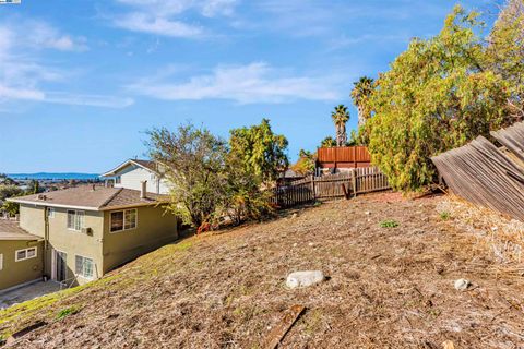
[[[240,104],[341,98],[336,79],[287,75],[266,63],[218,67],[187,82],[166,82],[170,74],[129,86],[136,94],[167,100],[229,99]]]

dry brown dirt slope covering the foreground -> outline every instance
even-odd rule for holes
[[[13,314],[0,313],[0,333],[44,318],[14,347],[259,348],[303,304],[284,348],[524,348],[523,277],[443,220],[441,200],[368,196],[189,238],[3,324]],[[286,289],[303,269],[330,280]],[[462,277],[474,287],[456,291]]]

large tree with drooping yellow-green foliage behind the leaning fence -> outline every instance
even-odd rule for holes
[[[485,68],[477,17],[455,7],[436,37],[412,40],[379,77],[369,151],[396,190],[422,190],[436,180],[431,156],[511,122],[511,92]]]

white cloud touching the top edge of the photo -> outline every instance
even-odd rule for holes
[[[238,0],[116,0],[131,10],[112,16],[117,27],[171,37],[194,38],[205,34],[201,25],[180,19],[195,11],[201,16],[231,15]]]

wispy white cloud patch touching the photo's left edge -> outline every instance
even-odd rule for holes
[[[63,83],[70,74],[41,64],[39,51],[82,51],[87,49],[83,43],[44,22],[0,23],[0,104],[25,100],[106,108],[132,105],[134,100],[126,97],[47,92],[43,87],[45,83]]]

